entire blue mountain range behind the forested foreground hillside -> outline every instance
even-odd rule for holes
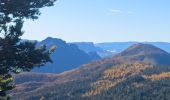
[[[37,46],[46,45],[49,49],[56,45],[57,49],[52,54],[53,63],[48,63],[43,67],[33,69],[33,72],[41,73],[62,73],[92,61],[112,57],[127,49],[137,42],[113,42],[113,43],[93,43],[93,42],[73,42],[66,43],[57,38],[48,37],[38,42]],[[170,52],[169,43],[147,42],[163,50]],[[81,58],[81,59],[80,59]],[[145,59],[147,60],[147,59]]]

